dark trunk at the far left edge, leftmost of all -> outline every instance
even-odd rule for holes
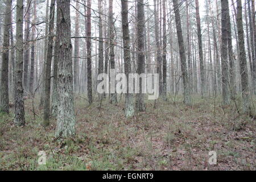
[[[6,1],[5,30],[3,32],[2,71],[0,90],[0,111],[9,114],[9,46],[12,0]],[[0,35],[1,36],[1,35]]]

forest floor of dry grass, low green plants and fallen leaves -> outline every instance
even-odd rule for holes
[[[146,101],[145,112],[126,119],[123,100],[99,108],[76,97],[77,134],[64,140],[54,137],[55,119],[41,126],[43,109],[35,104],[34,117],[28,99],[26,126],[14,125],[13,109],[0,114],[0,170],[255,170],[255,119],[220,99],[195,97],[189,107],[170,97],[155,109]],[[46,165],[38,164],[39,151]],[[208,163],[209,151],[217,152],[217,164]]]

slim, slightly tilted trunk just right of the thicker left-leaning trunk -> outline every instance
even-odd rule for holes
[[[200,77],[201,77],[201,96],[205,97],[205,71],[204,71],[204,56],[203,56],[203,45],[202,45],[202,34],[201,34],[201,20],[199,14],[199,2],[196,0],[196,25],[197,25],[197,36],[199,44],[199,63],[200,63]]]

